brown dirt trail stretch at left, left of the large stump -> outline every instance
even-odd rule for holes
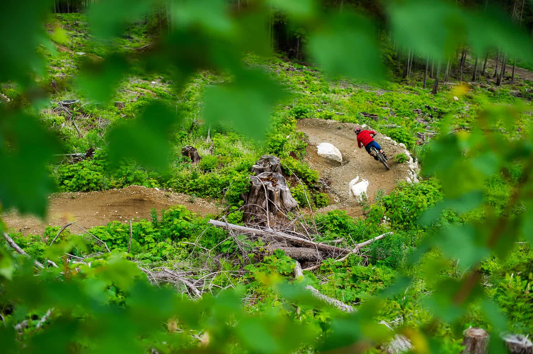
[[[41,234],[46,226],[63,226],[70,221],[85,228],[106,225],[110,221],[150,218],[151,208],[159,212],[171,205],[183,204],[200,215],[216,214],[215,201],[195,198],[181,193],[171,193],[155,188],[128,186],[103,192],[57,193],[49,196],[46,220],[20,216],[17,212],[1,216],[8,228],[28,234]],[[77,231],[77,228],[73,229]]]

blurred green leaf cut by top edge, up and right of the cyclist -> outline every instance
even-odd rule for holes
[[[446,59],[464,40],[464,13],[457,6],[434,0],[393,2],[389,8],[392,34],[423,56]]]

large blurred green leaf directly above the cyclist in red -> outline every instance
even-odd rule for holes
[[[384,68],[373,23],[348,11],[333,15],[309,37],[309,53],[330,76],[378,81]]]

